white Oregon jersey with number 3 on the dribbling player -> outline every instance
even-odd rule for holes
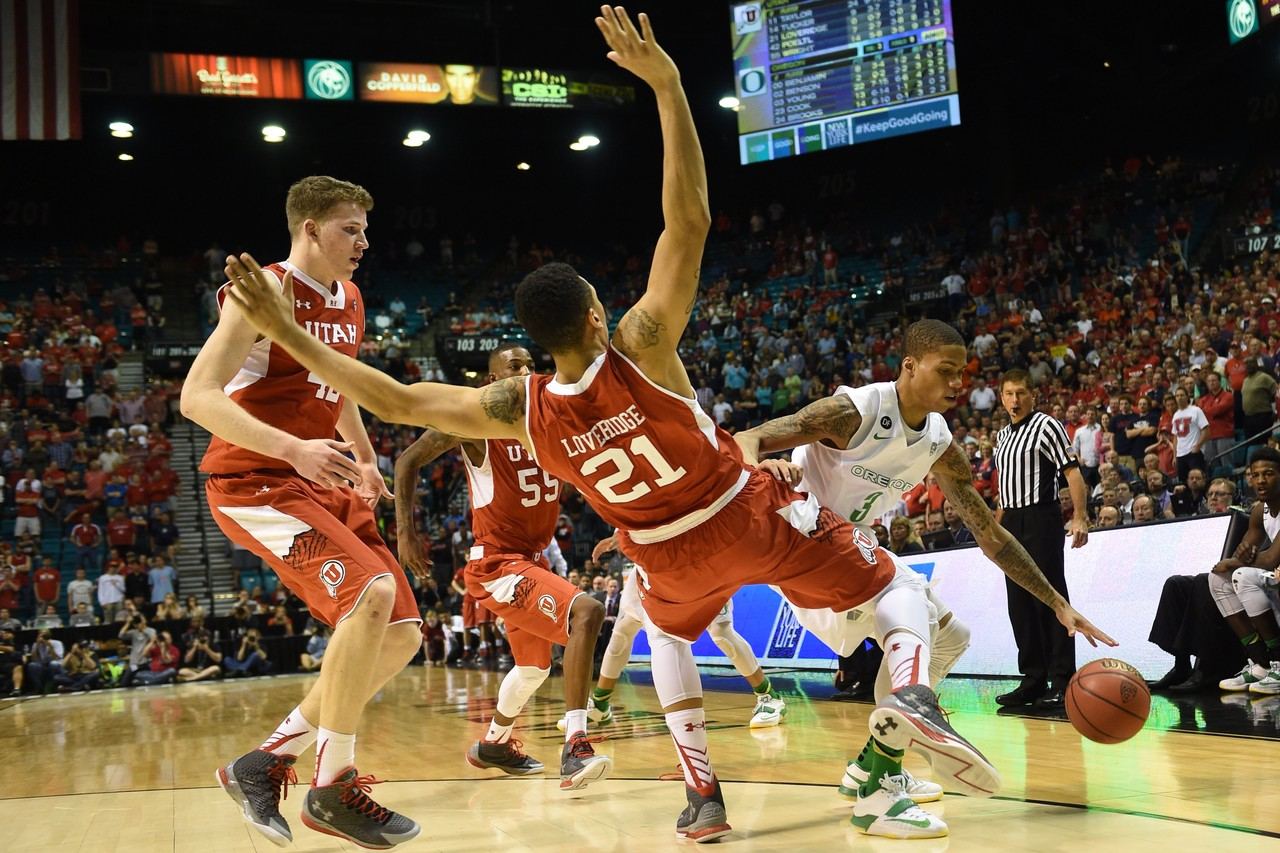
[[[845,450],[820,442],[795,448],[791,461],[804,469],[796,488],[813,493],[823,506],[854,524],[869,525],[924,480],[951,444],[951,430],[937,412],[929,414],[923,430],[910,429],[897,410],[892,382],[861,388],[841,386],[836,394],[854,401],[863,416],[861,426]]]

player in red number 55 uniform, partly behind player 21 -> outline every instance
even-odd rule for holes
[[[525,347],[497,350],[489,356],[489,382],[527,377],[532,366],[534,356]],[[586,690],[604,605],[550,571],[543,556],[556,534],[559,480],[539,469],[518,441],[468,441],[428,429],[396,460],[401,558],[420,578],[430,576],[430,558],[413,529],[417,473],[454,447],[462,448],[476,535],[463,570],[467,592],[480,608],[503,619],[516,661],[498,688],[489,731],[472,744],[467,761],[512,776],[541,772],[541,762],[521,752],[511,730],[547,680],[552,643],[558,643],[564,647],[564,707],[571,720],[564,729],[561,788],[585,788],[604,779],[612,766],[586,739]]]

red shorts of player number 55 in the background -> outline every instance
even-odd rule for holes
[[[480,556],[466,566],[467,593],[502,617],[516,666],[545,670],[552,665],[552,644],[568,643],[568,611],[582,593],[548,569],[540,553],[493,553],[490,548],[471,549]]]

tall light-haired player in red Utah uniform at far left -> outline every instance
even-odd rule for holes
[[[298,181],[285,201],[289,257],[262,270],[278,295],[291,293],[289,324],[344,365],[356,362],[365,330],[364,297],[348,279],[369,248],[372,205],[353,183]],[[221,767],[218,781],[283,847],[293,836],[280,795],[296,781],[293,762],[315,743],[302,822],[385,849],[419,834],[416,822],[369,797],[376,780],[358,775],[355,761],[365,704],[420,639],[413,592],[374,520],[372,507],[390,493],[355,401],[259,337],[227,291],[182,389],[183,415],[214,434],[200,466],[210,474],[209,507],[223,533],[265,560],[334,633],[302,703],[261,747]]]

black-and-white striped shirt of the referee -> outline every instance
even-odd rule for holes
[[[1059,471],[1076,464],[1062,424],[1042,411],[996,433],[995,457],[1006,510],[1057,502]]]

